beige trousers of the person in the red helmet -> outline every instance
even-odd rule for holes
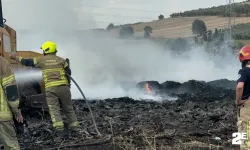
[[[248,140],[241,140],[240,149],[250,150],[250,99],[237,108],[238,132],[247,133]]]

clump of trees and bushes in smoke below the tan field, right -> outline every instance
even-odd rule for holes
[[[235,49],[236,45],[229,44],[227,33],[222,29],[207,30],[206,24],[202,20],[194,20],[190,29],[193,37],[169,39],[165,43],[168,50],[175,53],[189,51],[191,47],[203,47],[209,54],[223,54],[226,52],[226,46]]]

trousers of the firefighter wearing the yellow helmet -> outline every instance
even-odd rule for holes
[[[61,85],[47,88],[46,100],[49,107],[51,121],[55,129],[62,130],[64,128],[63,119],[60,113],[61,108],[63,114],[66,116],[66,121],[69,128],[75,128],[79,126],[73,109],[69,86]]]

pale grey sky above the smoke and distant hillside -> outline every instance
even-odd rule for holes
[[[4,18],[15,29],[106,28],[156,20],[160,14],[227,4],[228,0],[2,0]],[[235,0],[242,2],[242,0]],[[61,27],[55,24],[61,23]],[[53,26],[54,25],[54,26]],[[46,27],[45,27],[46,26]]]

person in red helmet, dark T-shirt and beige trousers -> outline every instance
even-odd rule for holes
[[[250,45],[244,46],[238,55],[242,69],[236,86],[238,132],[247,133],[248,140],[242,140],[241,150],[250,149]]]

